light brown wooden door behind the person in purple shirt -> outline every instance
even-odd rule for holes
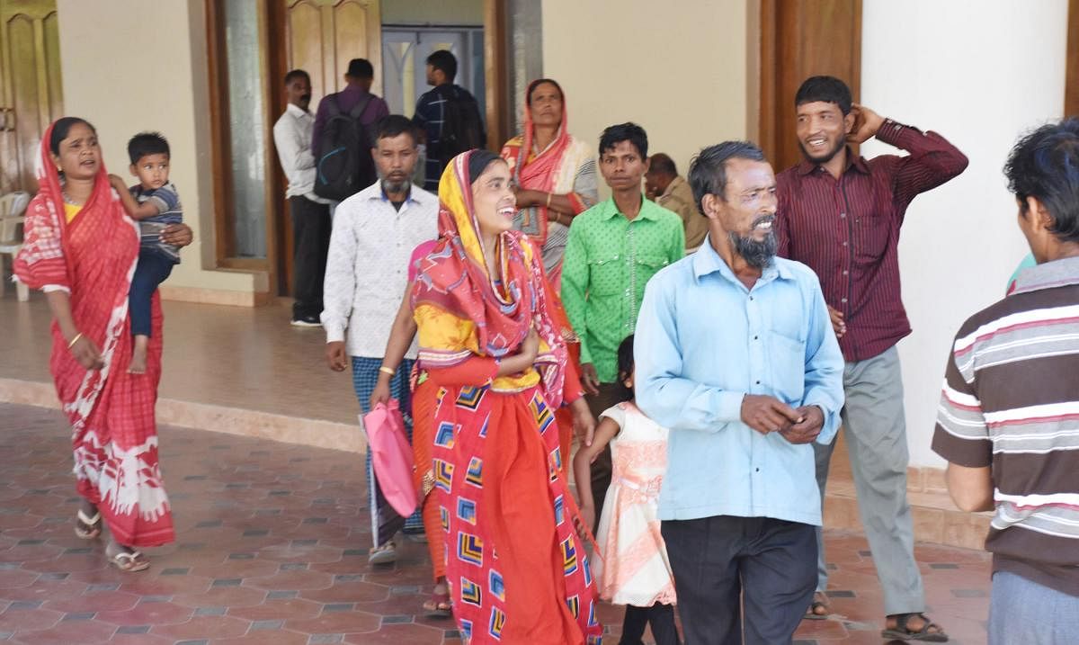
[[[277,47],[284,56],[272,60],[273,79],[281,84],[285,72],[302,69],[311,74],[311,110],[327,94],[344,88],[344,72],[353,58],[367,58],[374,68],[371,92],[382,94],[382,17],[378,0],[277,0],[284,11],[273,29],[281,39]],[[283,90],[274,94],[275,113],[285,110]],[[275,171],[281,168],[275,166]],[[282,183],[284,186],[284,182]],[[287,215],[287,202],[278,203],[277,248],[279,292],[290,293],[292,288],[292,227]]]

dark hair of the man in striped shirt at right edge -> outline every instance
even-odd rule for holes
[[[1048,123],[1015,143],[1005,164],[1008,190],[1024,217],[1035,197],[1053,220],[1062,243],[1079,244],[1079,118]]]

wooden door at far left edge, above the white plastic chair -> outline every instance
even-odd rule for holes
[[[0,193],[37,192],[41,135],[63,110],[56,0],[0,0]]]

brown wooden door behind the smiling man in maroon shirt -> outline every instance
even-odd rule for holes
[[[843,79],[858,101],[861,87],[861,0],[761,1],[759,141],[776,173],[798,163],[794,95],[809,77]]]

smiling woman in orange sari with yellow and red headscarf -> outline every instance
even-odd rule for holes
[[[566,351],[509,169],[474,150],[439,183],[439,243],[412,290],[421,369],[440,388],[432,449],[446,575],[464,639],[598,643],[596,585],[576,534],[554,410]],[[587,414],[579,387],[570,403]]]

